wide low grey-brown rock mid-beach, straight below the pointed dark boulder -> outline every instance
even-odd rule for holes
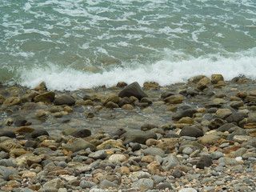
[[[128,144],[129,142],[138,142],[141,144],[146,144],[147,139],[157,138],[157,134],[151,131],[135,130],[133,132],[126,132],[125,134],[122,134],[120,137],[125,138],[125,141],[123,142],[124,145]]]

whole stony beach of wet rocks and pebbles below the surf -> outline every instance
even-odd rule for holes
[[[0,84],[0,188],[256,191],[255,110],[244,76],[62,92]]]

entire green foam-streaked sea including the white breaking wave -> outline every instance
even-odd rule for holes
[[[254,0],[0,0],[0,82],[50,90],[256,78]]]

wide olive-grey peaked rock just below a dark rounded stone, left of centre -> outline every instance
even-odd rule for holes
[[[70,142],[66,144],[66,146],[63,147],[67,151],[76,152],[78,150],[86,150],[87,148],[90,148],[90,150],[95,150],[95,146],[92,145],[90,142],[86,142],[82,138],[78,138],[74,142]]]

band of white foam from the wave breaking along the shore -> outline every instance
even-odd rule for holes
[[[218,57],[190,58],[180,61],[164,59],[152,65],[141,65],[135,68],[115,67],[103,73],[91,73],[74,70],[69,67],[62,68],[54,64],[33,70],[22,70],[18,80],[22,86],[30,88],[46,82],[50,90],[78,90],[95,86],[114,86],[117,82],[158,82],[161,86],[168,86],[176,82],[186,82],[188,78],[204,74],[222,74],[225,80],[245,74],[248,78],[256,78],[256,57],[245,56],[238,58]]]

